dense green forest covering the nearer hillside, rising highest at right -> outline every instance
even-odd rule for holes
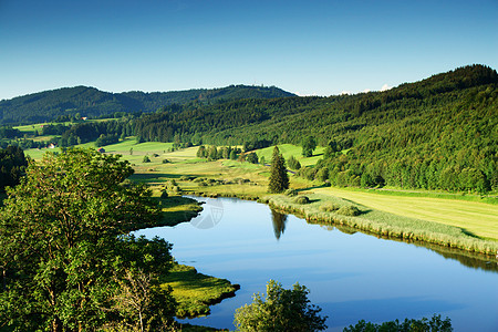
[[[256,87],[250,87],[256,89]],[[498,190],[498,74],[470,65],[385,92],[164,105],[114,121],[45,126],[62,146],[135,135],[177,146],[326,146],[307,178],[336,186]],[[1,132],[0,132],[1,134]],[[15,135],[6,128],[6,136]]]

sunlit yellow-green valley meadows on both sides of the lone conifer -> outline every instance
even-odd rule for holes
[[[269,167],[226,159],[208,162],[196,157],[198,147],[174,152],[172,147],[172,143],[136,144],[135,139],[128,138],[118,144],[105,146],[105,151],[121,154],[124,159],[129,160],[136,170],[133,179],[152,186],[155,196],[159,196],[160,190],[172,186],[172,180],[181,189],[181,194],[246,199],[268,196]],[[266,148],[257,153],[269,156],[270,151],[271,148]],[[312,165],[320,158],[319,156],[303,158],[299,155],[300,149],[290,144],[282,145],[281,151],[286,158],[293,155],[302,165]],[[34,158],[39,156],[40,152],[33,155]],[[151,162],[144,163],[145,156]],[[398,216],[404,220],[411,219],[414,225],[422,220],[428,222],[426,225],[450,226],[477,241],[490,240],[498,249],[496,205],[478,201],[478,196],[473,199],[477,201],[473,201],[468,199],[468,196],[463,197],[457,194],[449,194],[447,196],[452,199],[445,199],[434,198],[430,196],[435,195],[424,195],[424,193],[400,195],[401,193],[395,190],[381,193],[380,190],[332,188],[293,175],[290,177],[291,187],[305,193],[340,198],[360,206],[363,210],[371,209],[377,214]]]

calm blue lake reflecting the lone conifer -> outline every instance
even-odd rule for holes
[[[328,315],[328,331],[360,320],[449,317],[455,331],[498,331],[497,260],[474,259],[413,243],[307,224],[267,205],[199,198],[204,211],[176,227],[139,230],[172,242],[175,259],[239,283],[235,298],[194,324],[234,330],[235,310],[264,292],[270,279],[299,282]],[[465,203],[463,203],[465,204]],[[461,261],[461,262],[460,262]]]

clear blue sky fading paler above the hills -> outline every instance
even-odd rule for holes
[[[356,93],[498,69],[498,0],[0,0],[0,100],[230,84]]]

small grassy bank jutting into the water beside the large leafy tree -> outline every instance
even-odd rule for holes
[[[193,267],[176,263],[162,279],[162,287],[172,287],[173,297],[178,301],[176,317],[194,318],[209,314],[209,305],[235,297],[240,288],[226,279],[197,272]]]

